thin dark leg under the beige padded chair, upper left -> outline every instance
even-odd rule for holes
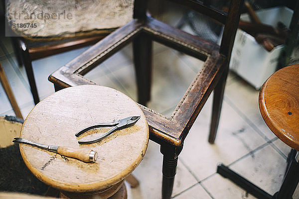
[[[39,97],[36,89],[36,84],[35,84],[35,79],[33,75],[33,69],[32,69],[32,64],[31,64],[31,59],[29,56],[28,48],[25,45],[25,43],[22,40],[19,40],[20,46],[21,46],[21,52],[22,52],[22,57],[23,57],[23,64],[25,66],[27,78],[29,81],[31,93],[33,96],[34,104],[36,105],[39,102]]]

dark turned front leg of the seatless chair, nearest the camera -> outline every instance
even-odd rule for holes
[[[181,152],[182,148],[183,145],[161,145],[160,151],[163,154],[162,199],[171,198],[174,176],[176,174],[178,155]]]

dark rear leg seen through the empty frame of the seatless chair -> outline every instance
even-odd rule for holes
[[[133,56],[138,88],[138,102],[142,105],[150,100],[152,42],[145,34],[133,41]]]

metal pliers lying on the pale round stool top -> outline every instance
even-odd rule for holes
[[[101,127],[109,127],[109,126],[114,126],[114,127],[111,128],[106,133],[104,133],[103,135],[101,135],[100,137],[97,137],[97,138],[94,138],[91,140],[79,140],[78,143],[79,144],[91,144],[91,143],[95,143],[100,140],[103,140],[104,138],[108,137],[116,130],[120,130],[123,128],[133,126],[139,120],[139,118],[140,118],[140,116],[130,116],[130,117],[126,117],[124,119],[120,119],[120,120],[116,120],[116,121],[114,120],[113,122],[109,122],[109,123],[98,123],[98,124],[94,124],[91,126],[87,126],[87,127],[83,128],[82,130],[80,130],[79,132],[77,132],[76,137],[78,137],[82,133],[89,131],[91,129],[101,128]]]

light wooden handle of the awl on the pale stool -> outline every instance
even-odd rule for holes
[[[97,152],[87,148],[73,149],[60,146],[57,153],[70,158],[76,158],[83,162],[95,162],[97,159]]]

